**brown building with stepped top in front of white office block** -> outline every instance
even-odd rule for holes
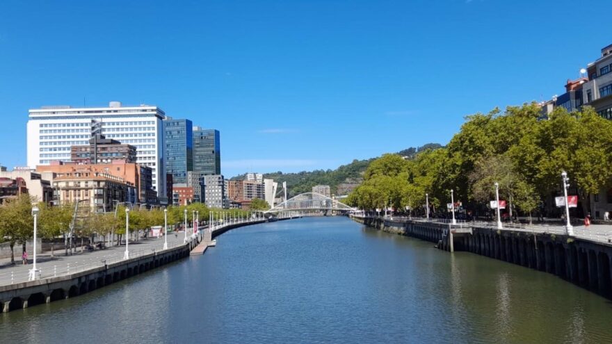
[[[112,163],[115,160],[136,163],[136,147],[96,134],[89,139],[89,145],[70,146],[70,160],[80,164]]]

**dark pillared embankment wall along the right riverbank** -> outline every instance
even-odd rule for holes
[[[612,245],[565,235],[472,227],[471,233],[450,234],[448,224],[353,220],[389,233],[436,243],[447,251],[472,252],[492,259],[549,272],[612,299]]]

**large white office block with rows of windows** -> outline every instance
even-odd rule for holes
[[[157,106],[122,106],[111,101],[104,108],[42,106],[29,110],[27,125],[28,165],[49,165],[70,161],[70,146],[88,145],[92,124],[102,123],[102,134],[136,147],[136,162],[153,172],[153,188],[160,202],[166,197],[166,166],[162,120]]]

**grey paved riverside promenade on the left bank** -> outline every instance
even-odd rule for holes
[[[175,235],[176,233],[176,235]],[[168,234],[168,247],[175,247],[184,243],[184,231]],[[188,236],[193,233],[188,230]],[[129,242],[130,258],[150,254],[154,251],[163,249],[163,237],[161,238],[144,238],[138,239],[136,242]],[[72,256],[64,256],[65,251],[55,250],[55,257],[51,259],[51,252],[43,252],[37,255],[36,268],[40,270],[40,277],[53,277],[55,275],[65,275],[67,272],[77,272],[102,266],[104,263],[113,263],[123,259],[125,252],[125,243],[121,246],[106,247],[106,249],[97,249],[92,252],[81,252],[81,248],[77,247],[77,253]],[[28,280],[29,270],[33,264],[33,254],[29,254],[29,263],[22,265],[21,249],[15,249],[15,263],[10,264],[10,258],[0,259],[0,286],[6,284],[15,284]]]

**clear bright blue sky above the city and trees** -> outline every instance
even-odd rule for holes
[[[221,131],[223,174],[335,168],[563,93],[609,1],[0,1],[0,164],[28,108],[155,104]]]

